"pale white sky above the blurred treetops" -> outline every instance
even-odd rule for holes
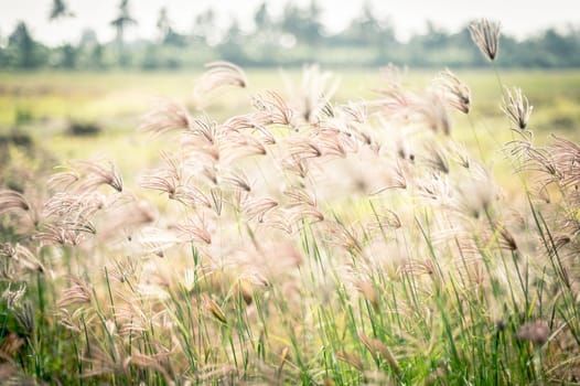
[[[268,0],[270,12],[281,13],[289,0]],[[490,18],[502,23],[502,31],[524,39],[556,28],[565,30],[572,25],[580,29],[580,0],[318,0],[323,10],[323,23],[327,31],[337,32],[348,21],[361,14],[365,1],[372,3],[379,18],[389,18],[399,39],[423,32],[429,20],[449,32],[458,31],[469,21]],[[45,44],[76,43],[84,29],[96,31],[101,42],[114,37],[110,21],[117,13],[120,0],[67,0],[75,18],[49,21],[52,0],[0,0],[0,39],[6,39],[18,21],[26,22],[34,39]],[[157,35],[159,10],[167,8],[169,18],[178,32],[190,33],[195,17],[208,8],[218,14],[218,24],[227,26],[233,18],[243,29],[253,29],[253,14],[262,0],[131,0],[130,10],[138,25],[130,28],[129,40],[151,39]],[[310,0],[294,0],[308,4]]]

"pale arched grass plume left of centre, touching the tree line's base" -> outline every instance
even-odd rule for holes
[[[247,87],[246,73],[239,66],[226,61],[205,64],[207,71],[195,85],[195,94],[203,96],[223,86]]]

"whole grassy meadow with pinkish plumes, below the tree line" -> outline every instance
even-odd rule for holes
[[[0,74],[0,378],[579,384],[579,71]]]

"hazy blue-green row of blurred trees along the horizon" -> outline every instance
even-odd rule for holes
[[[3,69],[106,69],[198,67],[223,58],[244,66],[292,66],[319,62],[326,66],[377,66],[386,63],[413,67],[479,67],[485,64],[471,42],[468,25],[448,32],[431,22],[427,31],[407,42],[396,37],[390,19],[379,18],[367,3],[361,14],[340,33],[330,34],[321,22],[316,0],[307,7],[287,3],[273,18],[262,2],[254,13],[254,30],[243,31],[233,20],[227,30],[216,26],[216,14],[206,10],[195,17],[190,33],[178,32],[167,9],[159,11],[158,36],[126,42],[125,32],[136,25],[129,0],[121,0],[110,26],[111,42],[99,42],[86,30],[77,44],[49,47],[36,41],[28,25],[20,22],[4,39],[0,36],[0,68]],[[49,18],[54,22],[74,17],[63,0],[53,0]],[[497,64],[504,67],[578,67],[580,30],[549,29],[524,41],[502,35]]]

